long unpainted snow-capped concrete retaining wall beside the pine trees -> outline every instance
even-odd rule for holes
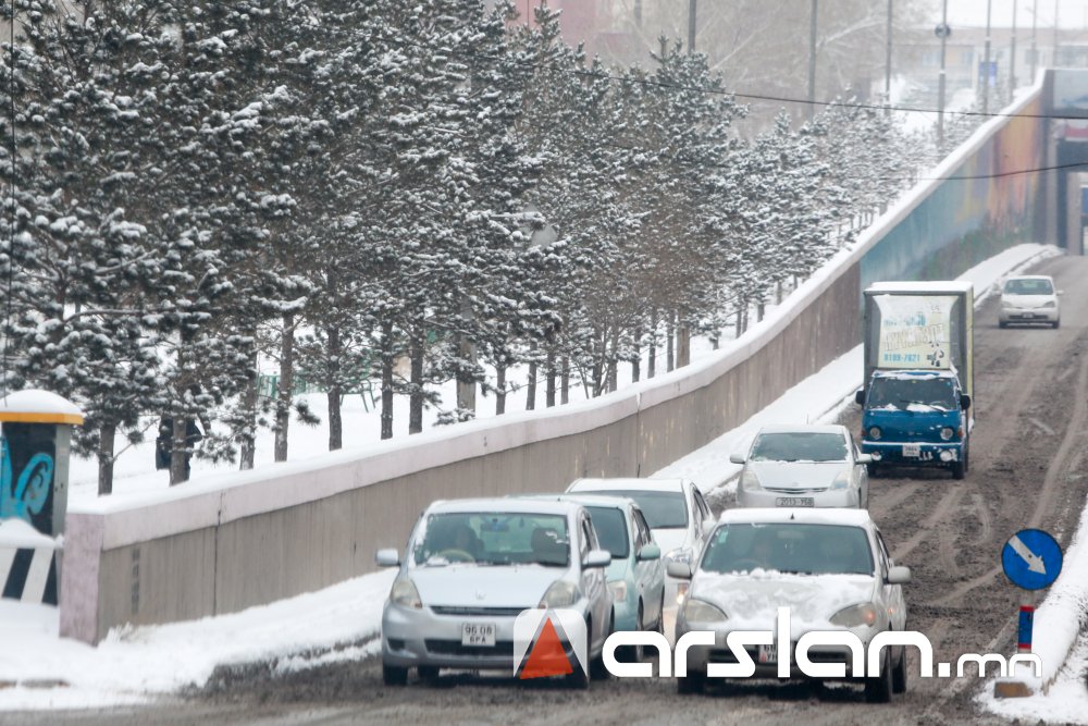
[[[988,124],[970,152],[992,156],[1006,127],[1002,120]],[[947,167],[945,174],[959,168]],[[856,345],[866,255],[899,225],[917,229],[918,216],[939,227],[934,214],[955,213],[954,205],[932,201],[941,194],[938,181],[920,185],[729,353],[653,381],[592,402],[386,442],[367,455],[337,452],[320,464],[288,463],[72,507],[61,633],[97,642],[122,624],[235,612],[370,571],[374,551],[404,546],[435,499],[559,491],[582,476],[653,472]],[[1029,224],[1029,212],[1012,221]],[[934,254],[993,223],[986,216],[960,219],[960,237]],[[1004,244],[1013,242],[1019,241]],[[887,260],[900,257],[913,264],[894,245],[914,244],[904,235],[885,243],[879,267],[887,271]],[[948,259],[945,276],[967,267],[951,269],[963,260]]]

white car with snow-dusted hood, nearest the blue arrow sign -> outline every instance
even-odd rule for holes
[[[755,678],[778,677],[782,648],[790,650],[790,677],[808,677],[795,657],[798,640],[808,632],[852,633],[867,660],[877,633],[906,629],[901,586],[910,582],[911,570],[894,565],[867,512],[729,509],[697,567],[685,567],[670,566],[670,575],[691,577],[688,599],[677,614],[677,639],[713,631],[715,644],[688,651],[687,675],[677,679],[681,693],[703,689],[709,664],[741,662],[728,647],[730,632],[777,633],[780,607],[789,608],[789,643],[776,637],[772,643],[743,649]],[[866,672],[865,678],[853,680],[864,684],[868,700],[885,702],[892,692],[906,691],[905,652],[905,645],[883,648],[878,673]],[[842,678],[828,679],[853,679],[846,644],[812,644],[807,657],[814,664],[845,665]]]

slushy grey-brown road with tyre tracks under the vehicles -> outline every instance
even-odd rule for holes
[[[996,300],[976,318],[976,419],[972,470],[875,479],[874,517],[900,564],[912,567],[908,627],[926,633],[938,662],[963,653],[1010,653],[1018,592],[999,566],[1001,544],[1039,526],[1066,543],[1088,493],[1088,258],[1058,258],[1038,272],[1065,290],[1059,330],[999,330]],[[856,408],[842,421],[858,424]],[[1042,421],[1053,434],[1035,421]],[[374,659],[286,676],[267,667],[214,678],[208,689],[150,707],[21,714],[18,723],[1006,723],[979,713],[981,681],[916,677],[890,705],[858,689],[747,682],[679,697],[671,679],[609,680],[589,692],[508,679],[455,676],[447,687],[386,689]],[[14,714],[5,714],[14,716]],[[15,719],[12,718],[11,722]],[[10,723],[5,717],[4,723]]]

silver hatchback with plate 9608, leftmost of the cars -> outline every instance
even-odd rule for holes
[[[440,668],[514,672],[515,620],[526,610],[577,611],[586,626],[589,670],[603,676],[613,600],[585,508],[571,502],[478,499],[435,502],[420,517],[382,612],[382,676],[403,686],[408,669],[435,680]],[[568,662],[577,654],[566,644]],[[572,685],[584,687],[577,665]]]

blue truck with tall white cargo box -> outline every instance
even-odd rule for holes
[[[862,453],[869,475],[940,467],[963,479],[974,426],[969,282],[878,282],[864,292]]]

